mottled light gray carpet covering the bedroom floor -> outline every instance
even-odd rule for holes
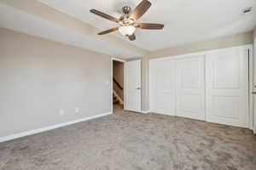
[[[0,169],[255,170],[256,137],[175,116],[104,116],[0,144]]]

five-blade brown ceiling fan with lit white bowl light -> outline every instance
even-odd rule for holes
[[[128,37],[131,41],[136,39],[134,32],[137,28],[148,29],[148,30],[161,30],[164,28],[162,24],[151,24],[151,23],[137,23],[136,21],[143,16],[151,6],[151,3],[147,0],[143,0],[137,5],[137,7],[131,11],[131,7],[125,6],[122,8],[123,15],[116,19],[109,14],[104,14],[96,9],[90,9],[90,12],[99,15],[107,20],[112,20],[119,24],[119,26],[111,28],[106,31],[99,32],[98,35],[108,34],[113,31],[119,31],[122,35]]]

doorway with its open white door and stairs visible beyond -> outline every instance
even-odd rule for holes
[[[125,61],[112,58],[112,112],[141,112],[141,59]]]

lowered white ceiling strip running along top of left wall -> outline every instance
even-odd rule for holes
[[[79,48],[94,50],[122,59],[129,59],[141,55],[131,49],[117,48],[115,44],[106,40],[87,37],[78,31],[63,27],[49,20],[43,20],[32,14],[27,14],[4,3],[0,3],[0,27],[37,37],[44,37]]]

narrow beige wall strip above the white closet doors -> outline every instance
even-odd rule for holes
[[[173,48],[166,48],[150,54],[150,58],[160,58],[179,54],[190,54],[200,51],[230,48],[253,43],[253,32],[247,32],[230,37],[220,37],[204,42],[193,42]]]

